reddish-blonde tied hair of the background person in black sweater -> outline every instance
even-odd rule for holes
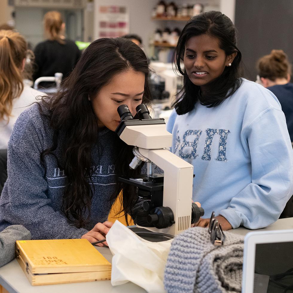
[[[50,40],[56,40],[60,44],[65,42],[61,38],[63,19],[58,11],[49,11],[44,16],[44,27]]]

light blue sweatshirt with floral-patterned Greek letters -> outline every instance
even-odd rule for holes
[[[172,112],[172,151],[194,166],[193,201],[237,228],[275,222],[293,193],[293,150],[280,103],[243,80],[219,106]]]

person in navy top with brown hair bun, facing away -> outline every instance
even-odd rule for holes
[[[293,144],[293,83],[291,64],[283,50],[272,50],[257,62],[262,85],[278,98],[286,117],[287,128]]]

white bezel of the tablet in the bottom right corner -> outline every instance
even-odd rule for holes
[[[244,238],[242,293],[253,293],[255,248],[261,243],[293,242],[293,230],[253,231]]]

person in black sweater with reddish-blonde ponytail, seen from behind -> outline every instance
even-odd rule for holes
[[[36,45],[34,50],[36,71],[33,79],[54,76],[56,72],[61,72],[65,78],[76,65],[81,52],[73,41],[65,39],[63,35],[65,23],[61,13],[47,12],[43,24],[48,39]],[[41,83],[41,85],[51,86],[52,83]]]

